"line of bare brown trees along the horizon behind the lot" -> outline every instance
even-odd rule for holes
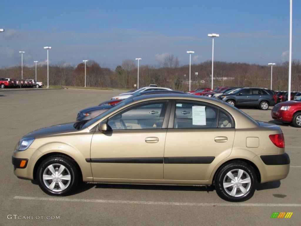
[[[197,73],[196,73],[197,72]],[[0,68],[0,77],[21,79],[21,66]],[[35,66],[23,66],[23,79],[35,78]],[[214,62],[214,87],[271,87],[271,67],[268,65]],[[37,66],[37,81],[47,84],[47,65]],[[288,62],[273,66],[273,90],[287,90]],[[84,86],[85,64],[76,67],[64,64],[49,65],[50,86]],[[90,60],[86,64],[86,84],[88,87],[134,89],[137,84],[137,65],[126,59],[115,70],[101,67]],[[140,65],[139,84],[169,87],[186,91],[189,88],[189,65],[179,65],[179,60],[168,55],[159,66]],[[191,65],[191,89],[211,87],[211,61]],[[301,62],[292,62],[292,91],[301,91]]]

